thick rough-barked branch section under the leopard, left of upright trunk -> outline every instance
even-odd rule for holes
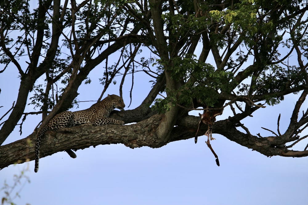
[[[40,157],[67,149],[78,150],[99,144],[124,144],[130,148],[149,146],[161,147],[156,139],[155,118],[132,125],[107,124],[93,126],[85,124],[71,128],[72,132],[47,131],[42,138]],[[156,126],[155,126],[156,124]],[[14,163],[34,160],[34,134],[0,147],[0,169]]]

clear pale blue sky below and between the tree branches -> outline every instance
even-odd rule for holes
[[[102,69],[103,64],[90,73],[92,82],[80,87],[79,101],[96,101],[99,98],[103,86],[99,84],[98,76],[101,77]],[[132,105],[125,109],[140,105],[151,88],[149,80],[152,79],[141,74],[134,75]],[[43,82],[43,77],[41,80]],[[124,103],[128,106],[130,79],[127,78],[124,85]],[[0,75],[0,89],[2,116],[11,108],[18,94],[19,79],[14,66]],[[119,95],[119,84],[111,85],[104,97],[107,94]],[[277,118],[281,113],[280,131],[283,133],[297,100],[298,96],[290,94],[281,104],[260,108],[242,123],[253,135],[271,136],[261,127],[276,131]],[[307,109],[307,101],[300,113]],[[92,104],[94,102],[81,102],[78,109],[71,111],[86,109]],[[27,106],[25,112],[32,111],[33,106]],[[230,110],[226,108],[217,120],[223,120],[229,114]],[[23,124],[22,136],[17,126],[4,144],[28,136],[40,120],[41,116],[28,116]],[[301,136],[307,134],[305,131]],[[123,144],[99,145],[78,150],[75,159],[66,152],[41,158],[38,173],[34,173],[34,161],[10,165],[0,170],[0,189],[5,182],[13,185],[13,175],[19,175],[29,167],[25,175],[30,183],[22,183],[11,194],[14,196],[21,189],[20,198],[14,199],[18,205],[308,204],[308,157],[266,157],[224,136],[213,134],[213,137],[216,140],[211,144],[219,157],[220,167],[204,143],[205,136],[199,137],[197,144],[192,138],[156,149],[131,149]],[[294,150],[303,150],[307,143],[307,139],[302,140],[294,146]],[[0,198],[3,196],[4,190],[1,190]]]

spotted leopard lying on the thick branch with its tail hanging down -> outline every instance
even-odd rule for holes
[[[39,129],[36,134],[35,143],[35,164],[34,172],[39,170],[39,148],[43,135],[48,130],[66,130],[68,128],[81,124],[92,123],[92,125],[104,124],[124,124],[123,120],[110,118],[109,115],[115,108],[124,110],[125,104],[123,98],[117,95],[109,95],[102,101],[93,104],[90,108],[75,112],[65,111],[55,115],[46,126]]]

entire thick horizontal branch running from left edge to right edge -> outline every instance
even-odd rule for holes
[[[120,112],[121,113],[121,112]],[[185,116],[177,122],[172,129],[170,139],[160,139],[156,129],[161,122],[163,115],[154,115],[131,125],[102,125],[93,126],[85,124],[71,128],[72,132],[47,131],[42,139],[40,157],[52,155],[67,149],[78,150],[97,146],[99,144],[124,144],[130,148],[148,146],[159,148],[165,144],[194,138],[200,118],[196,116]],[[235,141],[242,146],[251,148],[265,156],[308,156],[307,151],[293,151],[280,146],[285,143],[280,137],[257,137],[251,134],[240,132],[230,120],[220,120],[213,125],[213,134],[218,133],[229,140]],[[200,135],[205,133],[207,127],[201,126]],[[14,163],[23,163],[34,160],[34,134],[0,147],[0,169]],[[294,139],[296,140],[296,139]],[[192,141],[193,143],[193,141]]]

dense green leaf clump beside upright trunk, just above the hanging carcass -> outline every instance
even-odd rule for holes
[[[232,89],[232,84],[229,83],[233,79],[232,72],[217,70],[208,63],[199,62],[194,55],[172,58],[169,70],[172,79],[185,84],[178,90],[167,90],[167,98],[156,100],[154,107],[160,112],[167,111],[176,103],[189,106],[193,99],[213,106],[222,91],[229,93]]]

